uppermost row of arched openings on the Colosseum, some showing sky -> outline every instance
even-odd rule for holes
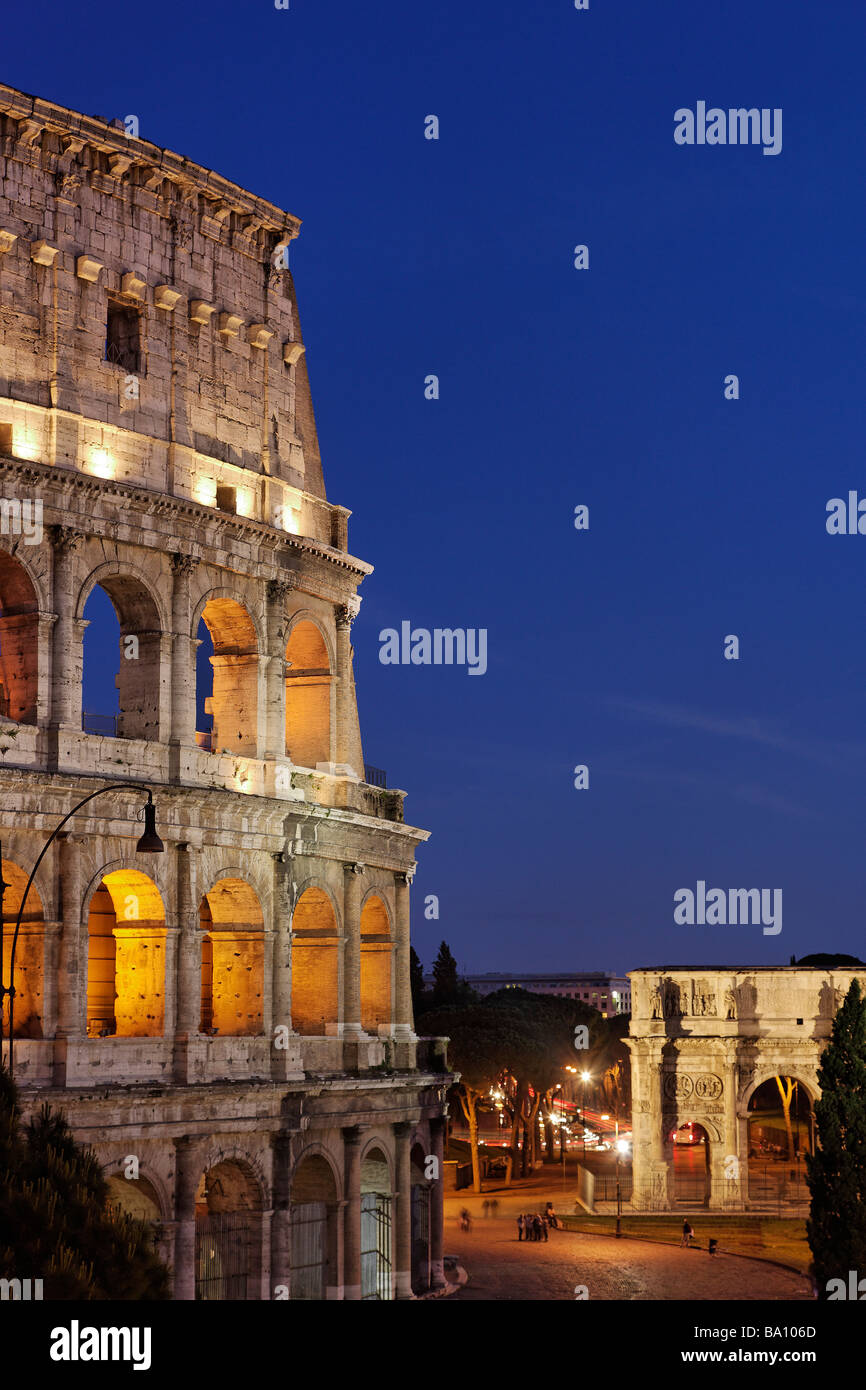
[[[161,714],[171,671],[164,638],[171,630],[160,595],[132,570],[104,566],[81,589],[74,616],[81,626],[81,652],[72,669],[82,673],[85,733],[145,741],[168,739]],[[40,673],[40,605],[36,584],[24,563],[0,550],[0,716],[38,724],[47,712],[47,663]],[[192,614],[195,738],[209,752],[259,755],[264,728],[264,634],[236,598],[211,592]],[[299,767],[334,762],[335,653],[318,619],[289,619],[281,657],[285,663],[285,756]],[[279,749],[271,749],[278,752]]]

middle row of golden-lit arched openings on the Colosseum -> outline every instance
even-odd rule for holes
[[[4,934],[26,885],[24,869],[3,860]],[[392,1020],[393,933],[388,908],[371,892],[360,912],[361,1027]],[[86,1033],[89,1037],[161,1037],[165,1030],[165,906],[156,883],[136,869],[106,873],[86,917]],[[324,1036],[339,1020],[341,933],[331,897],[307,887],[292,915],[292,1027]],[[254,888],[220,878],[199,903],[200,1015],[209,1036],[254,1037],[264,1030],[264,915]],[[7,958],[8,959],[8,958]],[[15,956],[15,1037],[43,1037],[44,916],[31,888]],[[4,1005],[8,1029],[8,1001]]]

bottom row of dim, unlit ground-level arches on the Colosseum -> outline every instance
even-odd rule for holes
[[[432,1183],[424,1176],[424,1148],[410,1151],[410,1251],[411,1287],[420,1293],[431,1283]],[[135,1180],[114,1175],[110,1200],[139,1220],[150,1222],[154,1243],[161,1227],[174,1219],[168,1201],[146,1175]],[[289,1190],[289,1297],[317,1301],[334,1295],[343,1283],[339,1269],[339,1220],[343,1208],[339,1172],[322,1154],[307,1154],[297,1163]],[[257,1300],[261,1293],[261,1259],[268,1207],[253,1168],[222,1159],[202,1172],[195,1197],[195,1297],[213,1302]],[[391,1163],[375,1144],[360,1163],[360,1265],[361,1298],[386,1301],[395,1290],[395,1193]],[[268,1297],[274,1297],[268,1291]]]

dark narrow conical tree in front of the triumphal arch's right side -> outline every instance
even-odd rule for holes
[[[828,1279],[866,1270],[866,999],[856,980],[833,1022],[817,1080],[806,1236],[819,1297],[826,1298]]]

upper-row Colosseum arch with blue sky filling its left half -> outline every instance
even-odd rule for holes
[[[158,741],[161,631],[152,595],[133,575],[110,575],[88,595],[83,619],[85,734]]]

